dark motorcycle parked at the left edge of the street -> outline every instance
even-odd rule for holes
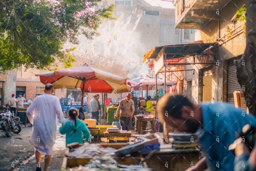
[[[9,110],[9,106],[0,112],[0,130],[6,134],[7,137],[11,137],[11,132],[18,134],[21,132],[20,118],[13,117]]]

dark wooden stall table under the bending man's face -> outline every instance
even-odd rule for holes
[[[146,157],[149,153],[141,153]],[[185,171],[191,167],[201,157],[198,148],[174,149],[172,145],[165,144],[160,146],[159,151],[155,151],[147,159],[149,168],[156,171]]]

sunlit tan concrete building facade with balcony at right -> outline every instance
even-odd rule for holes
[[[234,104],[233,92],[240,91],[242,108],[246,109],[243,98],[245,92],[237,81],[233,63],[245,49],[244,22],[236,21],[236,11],[244,5],[245,0],[219,0],[210,4],[200,0],[177,0],[175,28],[197,29],[196,40],[215,44],[204,55],[194,56],[198,62],[215,64],[193,64],[186,67],[195,70],[187,71],[184,80],[192,101],[226,101]],[[192,62],[193,56],[186,60]]]

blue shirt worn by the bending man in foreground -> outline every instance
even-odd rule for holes
[[[256,118],[232,104],[201,104],[203,129],[199,142],[209,171],[233,171],[235,156],[228,150],[243,126],[256,126]]]

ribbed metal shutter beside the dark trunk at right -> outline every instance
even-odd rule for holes
[[[244,93],[243,93],[241,86],[238,82],[238,79],[236,76],[236,66],[233,63],[233,60],[230,60],[228,62],[227,74],[228,74],[228,77],[227,77],[227,102],[235,105],[233,92],[240,91],[241,92],[241,101],[242,101],[241,108],[246,111],[247,106],[246,106],[246,102],[244,99]]]

